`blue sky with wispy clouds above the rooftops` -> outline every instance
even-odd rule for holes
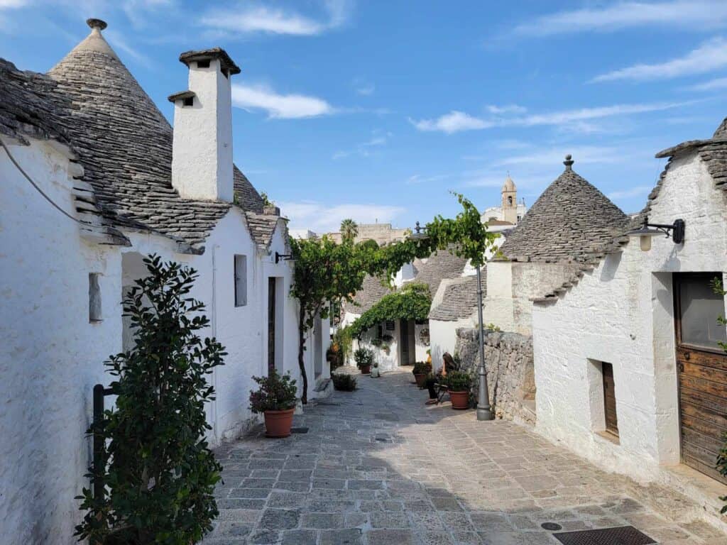
[[[425,222],[450,190],[526,203],[563,156],[624,211],[727,116],[727,1],[0,0],[0,56],[45,71],[87,17],[167,117],[177,57],[220,46],[234,155],[292,227]]]

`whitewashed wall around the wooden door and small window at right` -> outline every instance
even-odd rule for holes
[[[631,241],[555,304],[533,310],[537,429],[636,478],[678,464],[679,408],[672,273],[727,269],[726,206],[696,153],[675,159],[651,222],[686,221],[686,241]],[[598,364],[614,366],[619,444],[603,429]]]

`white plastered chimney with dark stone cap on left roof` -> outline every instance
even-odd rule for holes
[[[233,201],[230,76],[240,68],[224,49],[188,51],[189,90],[172,94],[172,186],[184,198]]]

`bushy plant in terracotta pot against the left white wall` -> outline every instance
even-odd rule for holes
[[[252,379],[260,387],[250,392],[250,410],[265,414],[265,435],[288,437],[297,401],[295,379],[290,372],[281,376],[274,369],[270,376],[253,376]]]

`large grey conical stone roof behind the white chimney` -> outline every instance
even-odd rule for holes
[[[58,111],[84,179],[114,224],[201,243],[232,205],[174,190],[172,127],[103,38],[105,23],[89,26],[89,36],[48,73],[63,95]],[[68,98],[72,108],[63,106]],[[236,203],[262,214],[260,195],[236,167],[234,183]]]

